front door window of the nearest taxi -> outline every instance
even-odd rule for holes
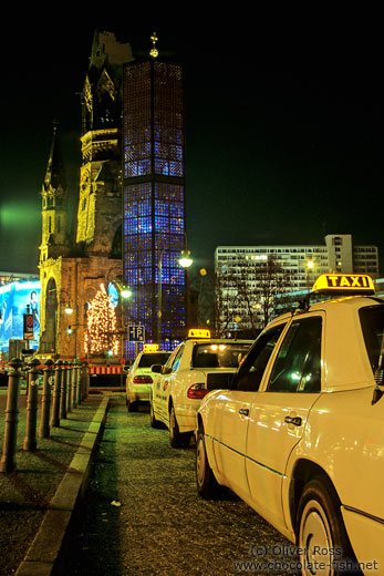
[[[274,346],[284,328],[284,323],[276,326],[263,332],[243,359],[236,378],[236,389],[242,391],[259,390],[262,374],[268,364]]]

